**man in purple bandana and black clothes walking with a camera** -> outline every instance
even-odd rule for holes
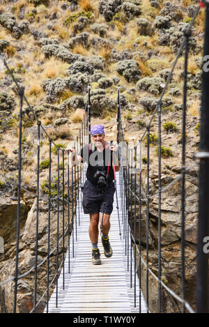
[[[101,264],[98,249],[99,222],[102,231],[102,245],[105,257],[112,256],[109,243],[110,215],[114,202],[114,171],[120,169],[118,149],[105,142],[104,126],[95,125],[91,128],[93,144],[86,144],[79,155],[72,152],[72,165],[87,162],[86,182],[82,188],[84,213],[90,215],[89,238],[92,244],[92,263]]]

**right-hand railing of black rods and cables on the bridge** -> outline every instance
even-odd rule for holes
[[[125,238],[125,254],[127,254],[127,270],[130,270],[130,285],[132,287],[132,245],[134,251],[134,294],[135,300],[134,305],[136,306],[136,250],[139,254],[139,312],[141,312],[141,295],[142,295],[142,285],[141,285],[141,273],[142,267],[141,263],[144,264],[146,269],[146,287],[144,290],[144,295],[146,299],[147,312],[150,312],[150,283],[149,283],[149,273],[158,282],[158,312],[162,312],[162,287],[166,289],[173,298],[182,304],[182,312],[187,309],[188,312],[194,313],[191,305],[185,300],[185,174],[188,174],[191,169],[196,167],[196,164],[191,165],[191,167],[185,167],[185,144],[186,144],[186,109],[187,109],[187,63],[188,63],[188,53],[189,53],[189,37],[191,36],[192,26],[198,15],[200,6],[196,7],[194,16],[189,23],[189,26],[184,31],[183,41],[180,44],[178,53],[176,54],[176,59],[173,61],[173,66],[167,78],[167,82],[164,85],[160,99],[157,101],[157,105],[153,111],[153,114],[148,122],[139,142],[134,148],[130,148],[125,141],[125,134],[123,131],[123,124],[121,119],[121,102],[120,102],[120,86],[118,86],[118,116],[117,116],[117,126],[118,126],[118,144],[119,153],[121,155],[121,160],[125,165],[122,166],[122,174],[124,178],[124,188],[123,192],[123,209],[122,209],[122,219],[123,219],[123,238]],[[182,167],[181,174],[177,176],[171,183],[162,188],[162,137],[161,137],[161,126],[162,126],[162,100],[171,77],[173,75],[173,70],[176,67],[176,63],[180,56],[182,56],[183,49],[185,50],[185,65],[184,65],[184,86],[183,86],[183,131],[182,131]],[[150,172],[150,128],[155,115],[158,114],[158,190],[154,195],[150,195],[150,185],[149,185],[149,172]],[[142,188],[142,142],[146,137],[147,146],[147,165],[146,165],[146,190]],[[122,144],[120,146],[120,144]],[[137,154],[139,154],[139,159],[137,159]],[[139,160],[139,161],[138,161]],[[134,162],[134,164],[133,164]],[[139,172],[137,172],[137,164],[139,164]],[[137,189],[137,177],[139,178],[139,188]],[[181,181],[181,296],[172,291],[167,287],[164,282],[162,282],[162,253],[161,253],[161,203],[162,203],[162,193],[169,190],[175,183]],[[139,196],[137,196],[137,192]],[[151,271],[149,267],[149,232],[150,232],[150,200],[154,197],[158,197],[158,276]],[[134,201],[134,203],[133,203]],[[139,204],[139,217],[136,216],[136,204]],[[146,204],[146,261],[141,255],[141,208],[143,203]],[[134,211],[134,213],[133,213]],[[136,239],[136,220],[139,220],[139,238]],[[134,222],[133,222],[134,220]],[[139,245],[137,245],[139,243]]]

